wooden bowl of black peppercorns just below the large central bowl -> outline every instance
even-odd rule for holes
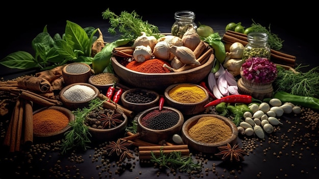
[[[132,88],[121,95],[123,107],[136,113],[158,106],[158,100],[157,92],[142,88]]]

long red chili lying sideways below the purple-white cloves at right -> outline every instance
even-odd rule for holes
[[[229,95],[229,96],[224,96],[220,99],[216,99],[211,101],[210,103],[208,103],[207,105],[205,105],[204,107],[209,107],[209,106],[216,106],[222,102],[225,103],[246,103],[249,104],[252,101],[257,100],[254,99],[252,96],[250,95],[245,95],[245,94],[233,94],[233,95]]]

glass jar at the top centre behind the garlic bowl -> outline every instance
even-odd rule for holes
[[[175,22],[172,25],[171,33],[173,36],[182,38],[184,33],[189,29],[189,25],[197,29],[197,24],[194,22],[195,13],[192,11],[177,11],[174,14]]]

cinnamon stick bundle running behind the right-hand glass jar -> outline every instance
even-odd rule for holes
[[[226,43],[225,46],[228,46],[228,51],[229,51],[229,46],[233,44],[234,42],[240,42],[244,46],[248,44],[246,34],[229,31],[229,30],[223,35],[222,40],[223,42]],[[227,51],[227,47],[226,47],[226,51]],[[296,57],[293,55],[285,54],[277,50],[271,49],[270,60],[277,64],[286,65],[286,66],[295,68]]]

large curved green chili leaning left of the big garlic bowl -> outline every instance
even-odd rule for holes
[[[113,48],[125,45],[130,39],[118,39],[114,42],[106,44],[102,50],[93,57],[92,67],[95,74],[103,72],[110,64]]]

